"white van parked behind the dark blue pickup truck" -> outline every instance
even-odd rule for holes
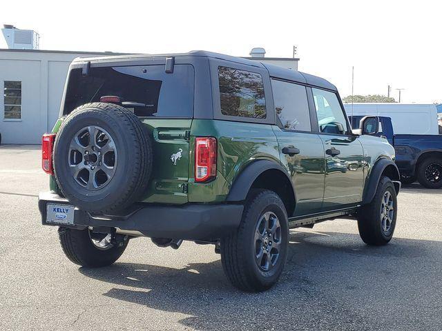
[[[439,134],[435,105],[405,103],[344,103],[347,116],[376,115],[392,119],[395,134]]]

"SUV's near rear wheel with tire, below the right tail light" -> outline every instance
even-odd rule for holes
[[[221,241],[222,267],[229,281],[247,292],[271,288],[285,265],[288,235],[280,197],[269,190],[252,190],[240,228]]]

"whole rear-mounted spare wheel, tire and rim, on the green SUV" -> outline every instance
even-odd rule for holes
[[[153,152],[135,114],[112,103],[86,103],[64,120],[53,157],[55,179],[70,203],[111,214],[145,192]]]

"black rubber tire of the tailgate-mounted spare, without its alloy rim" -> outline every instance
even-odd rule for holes
[[[73,178],[68,165],[70,142],[79,130],[98,126],[111,135],[117,150],[112,179],[88,190]],[[146,126],[135,114],[112,103],[86,103],[64,120],[55,139],[55,179],[64,197],[81,210],[112,214],[140,199],[151,177],[153,150]]]

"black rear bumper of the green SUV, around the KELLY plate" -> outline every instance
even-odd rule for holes
[[[73,225],[46,222],[46,205],[69,205],[67,199],[53,192],[39,194],[43,225],[82,230],[87,227],[119,228],[142,232],[146,237],[210,240],[226,236],[240,225],[243,206],[238,204],[148,205],[140,203],[119,215],[91,215],[75,208]]]

